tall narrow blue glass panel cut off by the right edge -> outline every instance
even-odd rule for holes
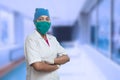
[[[114,1],[114,32],[112,58],[120,64],[120,0]]]

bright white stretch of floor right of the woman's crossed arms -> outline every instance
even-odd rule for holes
[[[62,65],[61,80],[107,80],[82,47],[67,48],[71,60]]]

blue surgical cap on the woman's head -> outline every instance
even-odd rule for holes
[[[35,22],[42,15],[46,15],[49,17],[49,11],[44,8],[36,8],[33,21]]]

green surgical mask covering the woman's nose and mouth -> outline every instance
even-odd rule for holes
[[[42,35],[46,34],[50,28],[51,23],[46,21],[35,22],[36,29]]]

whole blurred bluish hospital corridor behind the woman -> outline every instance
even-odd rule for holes
[[[0,80],[26,80],[24,41],[47,8],[71,61],[61,80],[120,80],[120,0],[0,0]]]

